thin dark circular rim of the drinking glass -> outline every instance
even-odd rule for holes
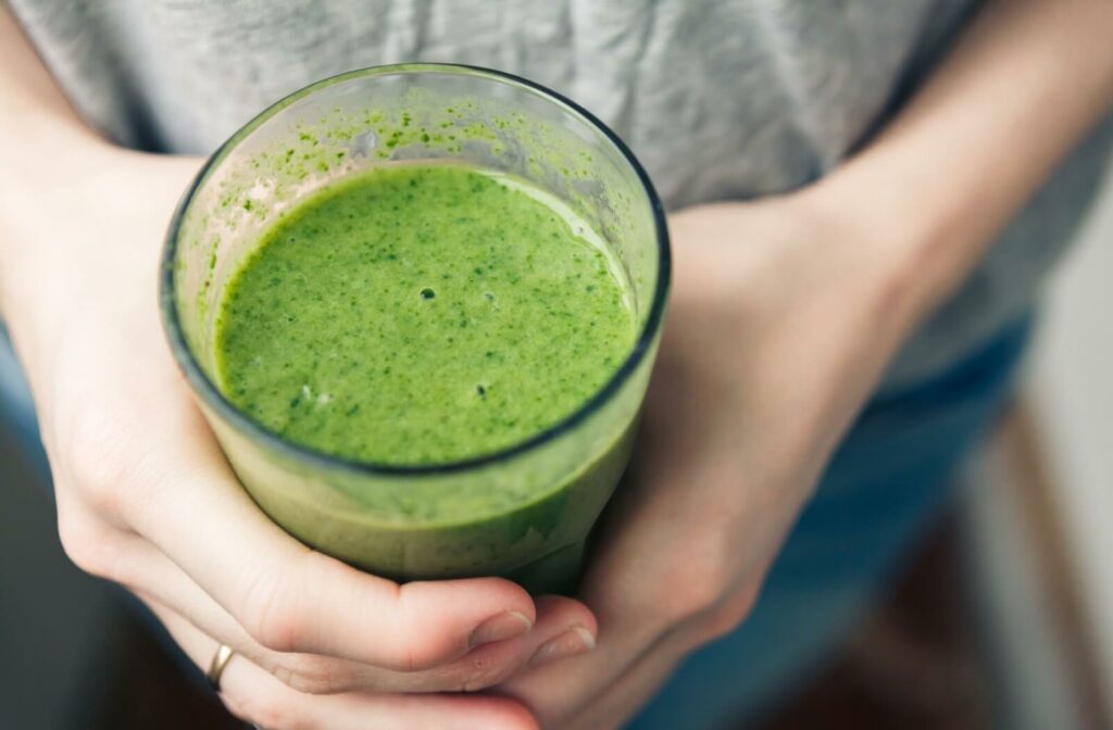
[[[216,169],[221,161],[224,161],[228,154],[230,154],[242,141],[244,141],[248,135],[254,132],[258,127],[268,121],[279,111],[316,91],[337,83],[351,81],[353,79],[400,73],[463,73],[473,77],[486,78],[500,83],[516,85],[519,87],[524,87],[548,101],[564,108],[565,111],[571,112],[573,116],[579,117],[589,127],[593,127],[601,132],[602,137],[619,152],[619,157],[621,157],[634,171],[634,175],[641,184],[642,191],[646,194],[650,211],[653,216],[653,228],[657,239],[657,283],[653,288],[653,300],[650,306],[649,316],[646,318],[646,323],[642,326],[641,332],[638,333],[638,338],[634,342],[633,348],[629,355],[627,355],[622,365],[610,376],[607,383],[595,391],[590,398],[580,404],[572,413],[562,417],[551,426],[522,441],[511,444],[504,448],[480,454],[477,456],[435,464],[387,464],[382,462],[347,458],[345,456],[329,454],[311,446],[287,441],[278,434],[269,431],[263,424],[248,416],[246,413],[236,407],[230,401],[228,401],[224,393],[220,392],[211,378],[209,378],[208,374],[198,364],[197,358],[189,348],[189,345],[186,343],[181,331],[181,323],[175,296],[175,260],[178,250],[178,235],[183,221],[186,213],[189,210],[209,174]],[[347,71],[303,87],[302,89],[283,97],[260,111],[252,118],[250,121],[233,134],[232,137],[229,137],[216,149],[216,151],[213,152],[213,155],[209,156],[209,158],[205,161],[205,165],[189,184],[189,187],[186,189],[186,193],[183,195],[181,200],[178,203],[178,206],[174,211],[174,216],[170,218],[170,225],[162,245],[161,273],[159,277],[159,308],[162,315],[162,328],[169,341],[174,359],[177,362],[178,367],[181,369],[194,393],[198,395],[205,406],[213,408],[221,418],[226,420],[242,433],[263,442],[268,448],[275,452],[288,454],[297,460],[309,462],[326,470],[381,476],[434,476],[481,468],[483,466],[508,462],[528,452],[532,452],[569,433],[591,417],[604,404],[610,402],[619,393],[621,387],[630,379],[634,371],[637,371],[638,366],[641,365],[642,361],[648,356],[650,349],[652,348],[653,339],[656,338],[657,333],[661,328],[664,319],[664,305],[671,278],[671,270],[672,262],[669,248],[669,231],[666,224],[664,209],[661,206],[661,200],[657,195],[657,190],[653,188],[653,184],[649,179],[649,175],[633,156],[633,152],[630,151],[630,148],[627,147],[626,142],[623,142],[618,135],[611,131],[611,129],[594,115],[571,99],[568,99],[567,97],[552,91],[540,83],[514,76],[513,73],[506,73],[505,71],[464,63],[395,63],[372,66]]]

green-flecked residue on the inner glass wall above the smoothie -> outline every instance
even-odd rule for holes
[[[319,117],[295,122],[269,141],[257,142],[243,164],[221,169],[220,178],[206,188],[206,197],[211,197],[198,203],[213,211],[213,221],[193,228],[179,245],[186,249],[208,247],[208,236],[194,231],[215,231],[216,270],[223,275],[240,265],[242,254],[237,249],[235,260],[224,260],[229,257],[220,239],[257,238],[263,228],[297,207],[313,190],[378,165],[447,158],[464,158],[533,181],[561,198],[594,230],[620,241],[630,235],[621,223],[629,217],[632,201],[607,197],[605,190],[621,189],[622,182],[608,179],[608,168],[593,165],[590,154],[571,152],[579,141],[568,135],[543,119],[501,107],[498,99],[459,97],[446,101],[420,89],[406,92],[401,100],[384,101],[382,108],[337,106]],[[529,156],[522,156],[522,150],[529,150]],[[604,193],[600,195],[600,190]],[[626,247],[615,244],[613,248]],[[213,274],[181,274],[187,278],[195,275],[205,280],[197,289],[196,310],[211,322],[217,305],[217,293],[209,286]],[[196,341],[196,333],[187,332],[186,336],[190,346],[207,347]]]

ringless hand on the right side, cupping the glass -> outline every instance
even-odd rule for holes
[[[741,623],[909,326],[885,226],[831,208],[796,194],[672,217],[641,438],[582,588],[598,645],[499,688],[545,728],[621,726],[686,654]]]

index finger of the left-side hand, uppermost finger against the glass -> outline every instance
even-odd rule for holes
[[[180,385],[180,384],[179,384]],[[180,386],[184,387],[184,386]],[[262,645],[413,671],[524,633],[532,599],[500,579],[398,585],[314,552],[272,523],[228,470],[187,394],[159,434],[157,493],[127,501],[154,542]],[[183,405],[185,403],[185,405]],[[168,441],[167,441],[168,440]]]

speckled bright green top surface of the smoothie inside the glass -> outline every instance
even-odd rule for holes
[[[601,239],[528,184],[377,168],[286,211],[225,288],[217,379],[269,431],[363,462],[513,446],[587,402],[636,318]]]

